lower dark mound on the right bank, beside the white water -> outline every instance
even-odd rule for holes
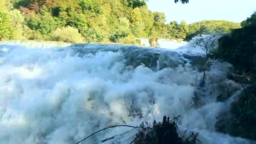
[[[216,130],[232,136],[256,140],[256,85],[246,88],[231,104],[231,114],[221,115]]]

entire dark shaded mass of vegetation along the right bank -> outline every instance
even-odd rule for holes
[[[232,64],[231,80],[243,85],[243,91],[231,104],[231,115],[216,123],[216,130],[256,140],[256,12],[219,39],[219,48],[213,56]]]

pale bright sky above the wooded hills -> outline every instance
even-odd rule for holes
[[[185,20],[188,24],[202,20],[241,22],[256,10],[256,0],[189,0],[188,4],[174,0],[149,0],[151,11],[164,12],[166,22]]]

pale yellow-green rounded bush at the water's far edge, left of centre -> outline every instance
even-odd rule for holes
[[[62,27],[53,31],[50,40],[67,43],[82,43],[84,38],[74,27]]]

